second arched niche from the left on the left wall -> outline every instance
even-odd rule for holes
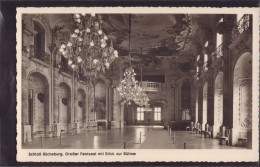
[[[71,90],[69,85],[64,82],[59,85],[58,101],[58,118],[61,130],[68,132],[71,123]]]

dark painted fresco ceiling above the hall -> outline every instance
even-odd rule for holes
[[[130,47],[133,61],[158,64],[162,58],[170,58],[169,61],[174,61],[172,64],[181,63],[182,71],[191,68],[190,63],[201,54],[206,41],[209,41],[209,46],[214,45],[214,40],[209,37],[212,38],[211,32],[216,28],[218,17],[188,14],[97,15],[102,18],[102,30],[121,58],[130,58]],[[66,25],[69,25],[68,22]]]

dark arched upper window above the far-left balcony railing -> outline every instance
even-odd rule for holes
[[[33,25],[34,30],[37,32],[34,36],[34,49],[36,52],[45,51],[45,29],[36,21],[33,22]]]

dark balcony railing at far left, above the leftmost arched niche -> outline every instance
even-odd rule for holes
[[[30,58],[35,58],[41,60],[47,64],[50,64],[50,55],[45,51],[35,48],[33,46],[30,47]]]

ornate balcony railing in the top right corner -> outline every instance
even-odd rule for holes
[[[232,40],[235,40],[239,36],[239,34],[248,30],[250,26],[250,15],[244,14],[232,30]]]

